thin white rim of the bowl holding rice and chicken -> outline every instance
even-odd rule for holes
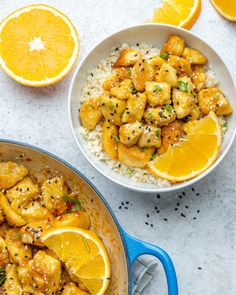
[[[139,183],[137,182],[137,185],[135,186],[131,186],[129,184],[126,183],[122,183],[121,181],[113,178],[112,176],[110,176],[108,173],[104,172],[102,169],[100,169],[99,167],[96,166],[96,164],[90,159],[89,155],[87,153],[85,153],[80,145],[80,142],[77,138],[76,132],[75,132],[75,128],[73,126],[73,120],[72,120],[72,92],[73,92],[73,88],[74,88],[74,84],[76,81],[76,78],[79,74],[79,71],[82,67],[82,65],[84,64],[84,62],[86,61],[86,59],[89,57],[89,55],[96,51],[97,48],[106,40],[112,38],[113,36],[115,36],[116,34],[122,33],[126,30],[132,30],[132,29],[137,29],[137,28],[141,28],[141,27],[167,27],[170,29],[175,29],[175,30],[179,30],[180,32],[185,32],[189,35],[194,36],[195,38],[201,40],[204,44],[206,44],[217,56],[217,58],[223,63],[223,65],[225,66],[226,70],[229,72],[230,78],[232,80],[232,84],[233,84],[233,88],[234,88],[234,92],[236,92],[236,84],[232,78],[232,72],[231,70],[227,67],[227,65],[225,64],[225,62],[223,61],[223,59],[221,58],[221,56],[217,53],[217,51],[212,48],[211,45],[209,45],[206,41],[204,41],[201,37],[199,37],[196,33],[193,33],[192,31],[186,30],[184,28],[180,28],[180,27],[176,27],[173,25],[168,25],[168,24],[161,24],[161,23],[145,23],[145,24],[139,24],[139,25],[133,25],[133,26],[128,26],[128,27],[124,27],[120,30],[115,31],[114,33],[110,34],[109,36],[106,36],[105,38],[103,38],[101,41],[97,42],[95,46],[92,47],[92,49],[89,50],[89,52],[87,54],[85,54],[85,56],[82,58],[82,60],[79,62],[79,64],[76,67],[76,70],[73,74],[72,80],[70,82],[70,87],[69,87],[69,93],[68,93],[68,118],[69,118],[69,125],[70,125],[70,129],[72,131],[73,137],[75,139],[75,142],[77,144],[77,146],[79,147],[80,151],[82,152],[83,156],[87,159],[87,161],[90,163],[90,165],[92,167],[94,167],[99,173],[101,173],[103,176],[105,176],[106,178],[110,179],[111,181],[115,182],[116,184],[121,185],[122,187],[125,187],[129,190],[133,190],[133,191],[137,191],[137,192],[142,192],[142,193],[167,193],[167,192],[173,192],[173,191],[177,191],[177,190],[181,190],[184,189],[186,187],[189,187],[193,184],[195,184],[196,182],[200,181],[201,179],[203,179],[205,176],[207,176],[208,174],[210,174],[220,163],[221,161],[225,158],[226,154],[228,153],[230,147],[232,146],[232,143],[234,141],[234,138],[236,136],[236,126],[232,132],[232,137],[229,140],[228,145],[226,146],[225,150],[223,151],[223,153],[216,159],[216,161],[214,162],[214,164],[212,166],[210,166],[207,170],[205,170],[203,173],[199,174],[198,176],[185,181],[185,182],[181,182],[178,183],[176,185],[172,185],[170,187],[157,187],[157,188],[144,188],[144,187],[138,187]]]

